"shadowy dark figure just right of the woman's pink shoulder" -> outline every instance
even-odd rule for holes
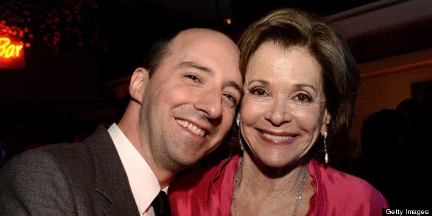
[[[374,184],[392,208],[411,206],[398,200],[398,197],[411,199],[406,190],[411,187],[408,183],[413,183],[412,177],[400,175],[412,169],[411,157],[407,154],[410,139],[407,118],[396,109],[382,109],[371,114],[361,127],[359,175]],[[406,166],[408,164],[411,168]]]

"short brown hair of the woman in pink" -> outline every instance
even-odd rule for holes
[[[321,66],[325,106],[332,116],[327,127],[327,147],[337,144],[340,139],[346,141],[354,116],[360,74],[343,34],[315,14],[290,8],[274,10],[249,25],[241,35],[237,43],[241,51],[241,72],[246,72],[250,56],[268,41],[286,49],[302,47],[314,56]],[[322,138],[318,140],[322,141]],[[317,146],[316,152],[322,152],[323,145]]]

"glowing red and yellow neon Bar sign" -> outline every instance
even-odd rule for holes
[[[0,68],[24,69],[23,43],[0,36]]]

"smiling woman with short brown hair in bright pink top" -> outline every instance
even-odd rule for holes
[[[252,23],[238,45],[246,73],[239,151],[175,179],[173,215],[380,215],[388,208],[374,186],[332,167],[360,81],[342,34],[286,8]]]

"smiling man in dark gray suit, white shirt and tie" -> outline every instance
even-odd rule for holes
[[[175,175],[216,149],[242,96],[239,50],[195,28],[152,47],[118,124],[50,144],[0,170],[0,215],[153,215]]]

